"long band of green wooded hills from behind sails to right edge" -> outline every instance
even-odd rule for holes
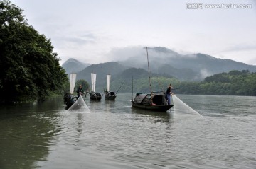
[[[138,71],[139,72],[139,71]],[[121,92],[133,93],[150,92],[149,78],[144,74],[135,76],[137,78],[127,81],[122,86]],[[117,88],[122,83],[119,78],[113,81],[112,86]],[[167,78],[163,76],[151,77],[152,91],[165,91],[171,83],[174,87],[173,93],[176,94],[195,94],[195,95],[252,95],[256,96],[256,73],[250,71],[230,71],[229,73],[215,74],[205,78],[201,82],[184,82],[178,81],[176,78]]]

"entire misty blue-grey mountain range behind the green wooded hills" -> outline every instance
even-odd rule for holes
[[[69,59],[63,64],[67,74],[77,72],[78,79],[90,82],[90,73],[97,74],[97,83],[104,85],[106,75],[116,78],[130,68],[148,70],[146,47],[119,48],[107,54],[116,58],[113,62],[102,64],[85,64]],[[178,54],[165,47],[148,47],[149,69],[151,74],[173,76],[180,81],[202,81],[207,76],[232,70],[249,70],[256,72],[256,66],[235,62],[230,59],[218,59],[207,54]],[[90,66],[89,66],[90,65]],[[137,72],[137,74],[140,71]],[[125,74],[125,76],[129,76]],[[132,76],[132,75],[130,75]],[[96,85],[97,86],[97,85]],[[97,88],[97,87],[96,87]]]

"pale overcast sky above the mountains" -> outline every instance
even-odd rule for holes
[[[97,64],[132,47],[167,47],[256,65],[256,3],[241,0],[12,0],[61,64]],[[193,4],[193,2],[200,4]],[[223,8],[207,8],[208,4]],[[235,5],[251,8],[235,8]],[[228,6],[229,5],[229,6]],[[198,8],[198,9],[193,9]],[[125,50],[124,50],[125,51]],[[128,57],[120,54],[119,57]]]

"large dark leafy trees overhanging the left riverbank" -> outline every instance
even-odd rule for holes
[[[68,81],[50,40],[7,0],[0,2],[0,57],[1,103],[45,98]]]

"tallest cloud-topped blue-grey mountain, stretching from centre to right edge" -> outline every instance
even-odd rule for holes
[[[127,51],[127,49],[125,50]],[[120,52],[119,52],[120,53]],[[132,53],[132,51],[131,51]],[[132,53],[129,58],[119,62],[127,66],[148,69],[146,49]],[[256,66],[235,62],[230,59],[218,59],[207,54],[178,54],[165,47],[148,47],[151,72],[169,74],[181,81],[201,81],[207,76],[232,70],[256,71]]]

